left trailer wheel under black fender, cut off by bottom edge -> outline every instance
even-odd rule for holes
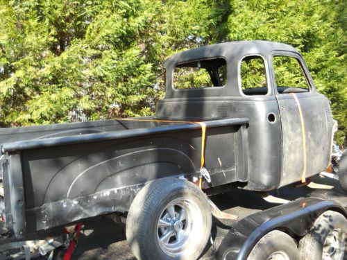
[[[284,232],[273,230],[260,239],[247,259],[267,260],[272,258],[298,260],[299,252],[294,239]]]

